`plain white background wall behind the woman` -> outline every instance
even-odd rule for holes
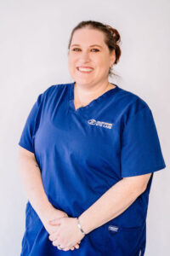
[[[170,2],[167,0],[0,2],[0,255],[20,255],[26,194],[18,172],[18,143],[37,96],[52,84],[72,82],[67,47],[82,20],[115,27],[122,56],[110,79],[148,103],[167,168],[150,190],[144,256],[169,255]]]

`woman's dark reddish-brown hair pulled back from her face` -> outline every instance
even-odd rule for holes
[[[93,28],[93,29],[97,29],[101,32],[104,32],[105,34],[105,44],[108,46],[110,53],[115,49],[115,54],[116,54],[116,61],[114,64],[116,64],[119,61],[119,58],[121,56],[121,49],[119,44],[121,43],[121,37],[119,32],[106,24],[103,24],[101,22],[98,21],[94,21],[94,20],[85,20],[82,21],[80,23],[78,23],[77,26],[75,26],[71,32],[71,38],[69,40],[69,45],[68,45],[68,49],[70,49],[71,46],[71,40],[73,37],[74,32],[77,29],[81,29],[82,27],[89,27],[89,28]],[[114,75],[114,73],[111,72],[111,67],[109,70],[109,75]]]

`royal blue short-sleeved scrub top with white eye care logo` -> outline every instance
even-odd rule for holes
[[[74,84],[40,94],[20,137],[19,145],[35,154],[48,201],[75,218],[123,177],[152,175],[126,211],[84,236],[74,251],[53,246],[28,201],[21,255],[144,255],[153,172],[166,167],[151,110],[116,84],[76,110]]]

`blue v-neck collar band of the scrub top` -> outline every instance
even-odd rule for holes
[[[74,105],[74,84],[76,82],[73,82],[70,84],[70,96],[69,96],[69,108],[72,112],[75,112],[75,113],[79,113],[80,111],[83,111],[83,110],[86,110],[88,108],[92,108],[94,107],[94,105],[97,103],[97,102],[100,102],[102,99],[104,99],[106,96],[109,96],[109,95],[113,95],[114,93],[116,93],[117,90],[120,90],[121,88],[116,85],[116,84],[113,84],[115,85],[116,87],[111,89],[111,90],[107,90],[105,91],[105,93],[103,93],[101,96],[99,96],[98,98],[94,99],[92,102],[89,102],[88,105],[84,106],[84,107],[80,107],[80,108],[75,108],[75,105]],[[112,83],[111,83],[112,84]]]

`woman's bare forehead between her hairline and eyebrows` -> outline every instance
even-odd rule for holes
[[[93,45],[99,44],[102,47],[105,47],[105,35],[103,32],[92,28],[81,28],[77,29],[72,37],[72,44],[81,44],[81,45]]]

